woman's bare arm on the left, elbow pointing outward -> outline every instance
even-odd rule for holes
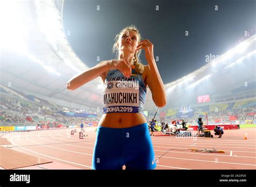
[[[73,76],[68,83],[66,83],[66,88],[68,90],[76,90],[82,85],[90,82],[91,80],[97,78],[98,76],[104,77],[105,72],[110,69],[111,60],[106,60],[98,63],[95,67],[86,69],[82,73]]]

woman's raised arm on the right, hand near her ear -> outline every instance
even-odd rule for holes
[[[144,70],[146,74],[145,81],[152,92],[152,99],[158,107],[164,107],[166,105],[166,92],[154,60],[153,44],[149,40],[142,40],[137,46],[137,50],[139,49],[145,49],[146,61],[149,64],[144,66]]]

